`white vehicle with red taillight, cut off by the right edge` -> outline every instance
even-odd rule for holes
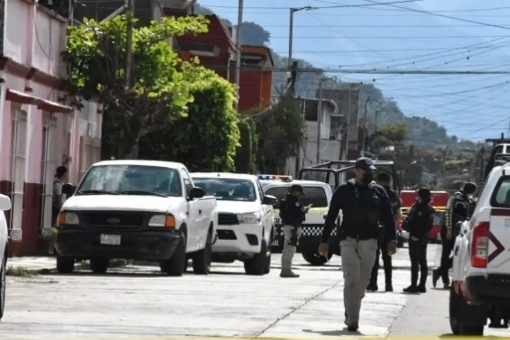
[[[494,167],[453,247],[449,303],[455,335],[483,335],[510,319],[510,163]]]

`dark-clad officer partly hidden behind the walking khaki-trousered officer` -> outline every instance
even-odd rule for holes
[[[395,216],[395,220],[398,221],[401,215],[401,203],[398,194],[395,190],[390,188],[391,176],[387,172],[381,172],[377,175],[377,183],[384,188],[388,197],[390,198],[391,206],[393,208],[393,215]],[[367,290],[370,292],[376,292],[378,290],[377,286],[377,272],[379,271],[379,256],[382,255],[382,263],[384,264],[384,274],[386,281],[386,292],[393,292],[393,284],[392,284],[392,271],[393,266],[391,263],[391,256],[388,254],[388,236],[386,233],[382,233],[380,241],[380,246],[377,248],[377,253],[375,255],[375,263],[374,267],[372,267],[372,274],[370,276],[370,283],[368,284]],[[382,250],[382,254],[381,254]]]

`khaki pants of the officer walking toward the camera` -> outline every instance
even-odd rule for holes
[[[360,320],[361,300],[370,282],[377,240],[347,238],[340,242],[340,252],[344,273],[344,307],[347,325],[350,325]]]

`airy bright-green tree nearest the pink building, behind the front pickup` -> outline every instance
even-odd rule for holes
[[[64,60],[71,68],[69,88],[105,105],[105,151],[116,158],[137,158],[140,139],[159,125],[186,117],[193,99],[170,37],[207,32],[199,17],[162,18],[133,30],[132,85],[125,85],[126,28],[131,12],[112,20],[85,19],[69,27]]]

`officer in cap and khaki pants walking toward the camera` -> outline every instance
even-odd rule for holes
[[[331,198],[319,245],[319,254],[327,256],[328,239],[342,210],[340,252],[344,273],[345,324],[349,331],[359,328],[361,301],[377,252],[379,224],[388,234],[388,253],[393,255],[397,249],[391,202],[384,188],[373,181],[374,170],[371,159],[361,157],[356,160],[356,177],[340,185]]]

